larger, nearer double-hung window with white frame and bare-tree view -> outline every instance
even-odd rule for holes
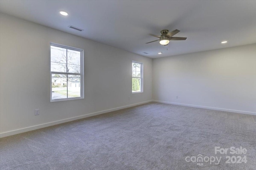
[[[84,98],[84,50],[50,43],[51,102]]]

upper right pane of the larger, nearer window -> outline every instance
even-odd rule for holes
[[[68,49],[68,72],[80,73],[80,51]]]

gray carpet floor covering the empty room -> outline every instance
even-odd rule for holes
[[[247,152],[230,154],[230,147]],[[0,169],[256,170],[256,116],[144,104],[4,137]]]

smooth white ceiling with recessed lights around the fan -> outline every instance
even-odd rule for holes
[[[255,0],[0,0],[0,12],[150,58],[256,43]],[[188,38],[145,44],[162,29]]]

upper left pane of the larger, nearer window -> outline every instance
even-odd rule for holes
[[[66,72],[66,49],[51,46],[51,71]]]

